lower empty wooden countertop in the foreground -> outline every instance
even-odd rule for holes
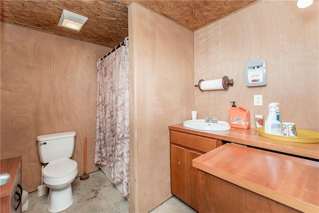
[[[192,165],[299,211],[319,212],[319,162],[228,143]]]

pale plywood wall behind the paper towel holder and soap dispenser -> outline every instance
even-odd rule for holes
[[[195,31],[193,83],[225,75],[235,82],[228,91],[195,88],[198,117],[228,120],[230,101],[267,116],[268,104],[279,102],[282,122],[319,131],[318,11],[318,1],[305,9],[261,1]],[[246,62],[259,58],[266,59],[267,85],[247,87]],[[254,95],[263,96],[263,106],[254,106]]]

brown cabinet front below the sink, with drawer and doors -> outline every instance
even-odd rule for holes
[[[171,194],[198,210],[197,169],[192,160],[221,146],[221,140],[169,131]]]

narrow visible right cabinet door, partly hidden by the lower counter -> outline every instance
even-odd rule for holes
[[[201,156],[201,154],[190,152],[190,181],[191,181],[191,207],[198,211],[198,182],[197,169],[191,166],[193,159]]]

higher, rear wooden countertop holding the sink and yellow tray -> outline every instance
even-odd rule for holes
[[[201,131],[186,128],[183,126],[183,124],[170,125],[168,126],[168,128],[170,130],[185,132],[189,134],[250,145],[313,159],[319,159],[319,143],[294,143],[265,138],[258,135],[256,129],[253,128],[231,128],[228,131]]]

